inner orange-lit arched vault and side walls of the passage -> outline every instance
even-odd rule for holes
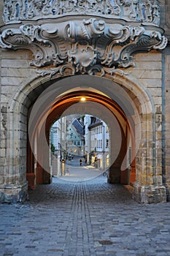
[[[85,97],[86,101],[80,104],[81,97]],[[48,96],[49,99],[49,96]],[[42,102],[42,99],[39,99]],[[90,105],[90,102],[95,102],[96,105]],[[131,162],[134,162],[134,156],[131,155],[131,160],[126,156],[128,150],[128,140],[130,140],[131,134],[133,133],[132,127],[133,122],[129,124],[128,118],[123,113],[123,110],[118,106],[111,98],[106,97],[104,94],[100,94],[99,91],[94,89],[73,89],[68,94],[64,94],[62,97],[55,99],[53,105],[51,101],[43,103],[41,113],[37,115],[36,107],[31,109],[32,115],[29,120],[29,140],[31,141],[31,149],[34,153],[28,158],[28,172],[34,173],[36,171],[36,181],[38,184],[50,183],[50,163],[49,163],[49,132],[50,126],[53,122],[60,118],[63,111],[67,110],[72,105],[78,106],[79,113],[96,113],[97,116],[101,116],[104,121],[107,121],[110,129],[111,147],[110,147],[110,173],[109,182],[112,183],[127,183],[127,168]],[[104,106],[104,108],[101,108]],[[77,106],[76,106],[77,107]],[[91,108],[91,109],[90,109]],[[102,109],[102,110],[101,110]],[[77,111],[76,108],[72,110]],[[101,113],[100,113],[101,111]],[[133,136],[134,140],[134,136]],[[29,147],[30,150],[30,147]],[[126,156],[126,157],[125,157]],[[31,165],[32,159],[34,162]],[[130,161],[130,162],[129,162]],[[124,164],[123,164],[124,162]],[[34,168],[36,164],[36,168]],[[124,166],[123,166],[124,165]],[[36,170],[35,170],[36,169]],[[135,176],[135,165],[134,170],[131,172],[130,181],[134,181]]]

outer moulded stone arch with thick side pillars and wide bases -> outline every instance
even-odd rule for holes
[[[10,163],[6,176],[8,180],[4,185],[2,192],[7,194],[11,189],[8,200],[24,200],[27,195],[26,182],[26,143],[27,143],[27,116],[28,108],[35,102],[39,94],[53,83],[58,95],[66,93],[74,89],[74,86],[80,86],[85,89],[91,86],[98,89],[100,85],[101,93],[109,96],[121,105],[126,116],[134,120],[135,128],[135,145],[134,148],[136,158],[136,181],[134,183],[134,199],[142,203],[152,203],[154,201],[166,201],[166,189],[163,187],[161,175],[157,175],[154,161],[157,154],[154,147],[155,124],[154,108],[152,107],[152,99],[146,90],[137,83],[128,80],[127,77],[115,75],[101,78],[90,75],[72,76],[69,78],[61,78],[58,80],[47,81],[43,83],[31,83],[31,86],[23,86],[13,96],[12,104],[7,113],[10,123],[8,129],[8,146],[11,151],[8,152],[7,161]],[[81,87],[82,86],[82,87]],[[128,109],[127,109],[128,107]],[[130,113],[132,115],[130,116]],[[139,122],[142,129],[139,130]],[[144,132],[143,132],[144,131]],[[141,133],[141,138],[140,138]],[[140,140],[139,140],[140,138]],[[139,141],[138,141],[139,140]],[[150,161],[151,164],[148,164]],[[9,185],[10,184],[10,185]]]

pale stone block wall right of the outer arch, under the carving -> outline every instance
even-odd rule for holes
[[[151,53],[140,53],[136,55],[136,67],[131,70],[131,75],[133,79],[137,79],[139,83],[142,83],[147,93],[150,94],[150,99],[152,101],[153,113],[150,113],[153,118],[153,122],[147,121],[147,130],[142,132],[147,132],[151,135],[152,129],[155,130],[153,141],[148,140],[146,145],[147,150],[147,166],[145,172],[141,173],[143,178],[140,178],[144,184],[152,184],[153,179],[156,178],[158,184],[162,182],[161,170],[161,129],[162,129],[162,57],[161,53],[152,51]],[[142,113],[141,113],[142,114]],[[146,116],[147,118],[150,118]],[[148,150],[150,148],[150,151]],[[152,163],[152,154],[155,151],[157,156],[154,163]],[[142,155],[143,158],[143,155]],[[139,159],[141,163],[143,159]],[[136,163],[138,164],[138,163]],[[153,165],[153,166],[152,166]],[[148,174],[148,175],[147,175]]]

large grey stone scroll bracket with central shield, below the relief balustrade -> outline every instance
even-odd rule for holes
[[[152,49],[163,50],[167,39],[163,30],[125,20],[90,18],[69,22],[12,24],[4,26],[0,34],[0,47],[12,50],[31,50],[31,66],[41,75],[113,74],[122,68],[134,66],[134,54]]]

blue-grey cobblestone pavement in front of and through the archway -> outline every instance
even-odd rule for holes
[[[0,205],[1,256],[167,256],[170,203],[134,202],[104,176],[72,182],[54,178],[29,201]]]

